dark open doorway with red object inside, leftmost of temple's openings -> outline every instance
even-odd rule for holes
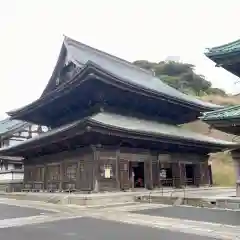
[[[144,188],[144,162],[131,162],[133,187]]]

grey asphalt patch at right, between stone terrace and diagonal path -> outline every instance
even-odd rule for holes
[[[193,221],[221,223],[234,226],[240,225],[240,211],[176,206],[159,209],[146,209],[134,211],[134,213],[188,219]]]

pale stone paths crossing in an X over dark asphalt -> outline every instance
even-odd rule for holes
[[[0,199],[1,204],[41,209],[46,212],[44,215],[33,215],[28,217],[17,217],[0,220],[0,228],[12,228],[19,226],[29,226],[45,224],[47,222],[58,222],[66,219],[91,218],[107,220],[111,222],[121,222],[136,226],[145,226],[153,229],[165,229],[173,232],[195,234],[196,236],[212,237],[215,239],[240,239],[239,226],[231,226],[219,223],[202,221],[190,221],[163,216],[150,216],[132,211],[154,208],[171,208],[169,205],[150,203],[129,203],[116,206],[83,207],[76,205],[55,205],[36,201],[19,201],[10,199]],[[51,211],[51,212],[50,212]],[[0,230],[1,231],[1,230]]]

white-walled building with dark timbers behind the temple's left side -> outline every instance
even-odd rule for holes
[[[0,148],[19,144],[39,135],[43,130],[42,127],[21,120],[4,119],[0,121]],[[0,156],[0,190],[16,191],[21,189],[23,177],[23,158]]]

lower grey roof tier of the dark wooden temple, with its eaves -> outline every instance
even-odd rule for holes
[[[30,149],[31,146],[51,145],[53,142],[60,142],[61,139],[66,139],[70,131],[74,132],[74,134],[78,134],[79,131],[81,133],[83,130],[86,131],[86,126],[92,126],[92,131],[94,131],[94,127],[98,126],[110,129],[111,131],[125,132],[129,135],[137,134],[145,137],[154,137],[162,142],[169,140],[172,143],[179,144],[180,140],[183,144],[187,142],[188,145],[205,145],[206,148],[209,149],[224,150],[239,147],[237,143],[208,137],[175,125],[168,125],[109,112],[101,112],[83,120],[78,120],[46,133],[42,133],[39,136],[20,142],[17,145],[2,148],[0,149],[0,155],[7,155],[16,150],[22,152]]]

